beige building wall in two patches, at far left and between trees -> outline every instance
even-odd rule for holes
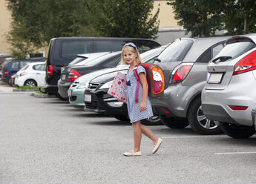
[[[177,26],[177,21],[174,19],[174,13],[172,7],[166,4],[165,1],[154,1],[153,14],[156,13],[160,4],[160,13],[158,19],[160,19],[160,31],[163,30],[180,30],[182,27]],[[7,43],[5,35],[10,30],[11,15],[7,10],[7,1],[0,0],[0,53],[10,53],[10,44]]]

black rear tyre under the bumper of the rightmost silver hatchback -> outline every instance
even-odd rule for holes
[[[246,139],[255,134],[254,126],[234,125],[229,122],[220,122],[221,130],[234,139]]]

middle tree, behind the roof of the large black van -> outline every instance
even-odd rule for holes
[[[152,0],[95,0],[92,24],[102,36],[156,39],[157,13],[152,15]]]

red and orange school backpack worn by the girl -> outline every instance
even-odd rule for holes
[[[137,73],[137,67],[134,67],[134,76],[137,79],[137,88],[136,88],[136,99],[135,102],[139,102],[139,83],[140,77]],[[165,89],[165,78],[163,75],[163,70],[160,66],[152,63],[140,63],[140,66],[145,68],[146,77],[148,81],[148,96],[155,97],[163,95]]]

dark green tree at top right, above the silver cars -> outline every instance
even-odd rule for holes
[[[255,0],[168,0],[175,19],[191,36],[214,36],[216,30],[226,35],[255,32]]]

